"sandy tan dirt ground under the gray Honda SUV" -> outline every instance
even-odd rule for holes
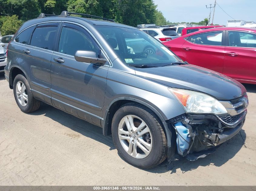
[[[0,74],[0,185],[256,185],[256,85],[241,134],[214,154],[143,170],[127,164],[100,127],[43,104],[30,114]]]

